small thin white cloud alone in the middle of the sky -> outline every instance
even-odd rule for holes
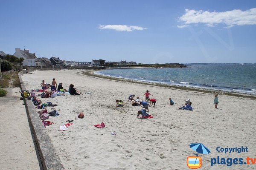
[[[126,26],[126,25],[99,25],[99,29],[113,29],[116,31],[134,31],[134,30],[143,30],[148,28],[143,28],[139,26]]]

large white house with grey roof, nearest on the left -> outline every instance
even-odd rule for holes
[[[13,54],[15,57],[23,58],[23,66],[36,66],[35,57],[29,53],[29,50],[20,50],[20,48],[15,48],[15,53]]]

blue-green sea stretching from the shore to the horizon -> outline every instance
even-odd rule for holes
[[[256,95],[256,64],[192,64],[187,68],[131,68],[98,71],[111,77]]]

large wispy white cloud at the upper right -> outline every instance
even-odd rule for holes
[[[185,11],[186,13],[179,18],[185,25],[204,23],[207,26],[215,26],[222,23],[227,25],[227,28],[230,28],[232,26],[256,24],[256,8],[251,8],[246,11],[234,9],[225,12],[196,11],[189,9]],[[180,26],[179,28],[183,27]]]

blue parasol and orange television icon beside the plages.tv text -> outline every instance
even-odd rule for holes
[[[202,159],[200,156],[198,156],[198,153],[209,154],[211,151],[202,143],[191,143],[189,144],[189,147],[192,150],[195,150],[197,153],[196,156],[187,157],[188,167],[191,169],[200,168],[202,166]]]

